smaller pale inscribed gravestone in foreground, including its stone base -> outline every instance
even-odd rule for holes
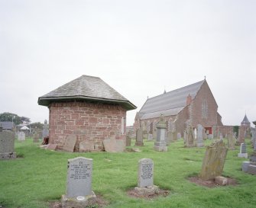
[[[150,158],[138,161],[138,187],[134,188],[138,195],[152,195],[159,192],[159,187],[154,186],[154,163]]]

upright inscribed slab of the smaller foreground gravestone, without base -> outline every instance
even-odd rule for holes
[[[154,163],[150,158],[138,161],[138,187],[152,187],[154,185]]]

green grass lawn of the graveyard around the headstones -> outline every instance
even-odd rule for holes
[[[246,139],[248,153],[252,152]],[[206,141],[209,145],[210,141]],[[226,140],[225,140],[225,143]],[[134,145],[134,142],[133,142]],[[228,151],[223,175],[235,178],[236,186],[201,187],[187,180],[199,174],[205,148],[183,148],[171,143],[168,152],[155,152],[154,142],[144,141],[142,152],[67,153],[40,149],[32,139],[15,142],[18,158],[0,161],[0,204],[5,208],[44,208],[66,192],[67,159],[93,159],[92,190],[109,201],[109,207],[256,207],[256,176],[241,171],[239,147]],[[142,200],[128,197],[126,190],[137,185],[138,160],[154,161],[154,184],[171,190],[167,197]]]

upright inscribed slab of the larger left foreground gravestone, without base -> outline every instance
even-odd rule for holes
[[[92,195],[92,159],[73,158],[68,160],[66,197]]]

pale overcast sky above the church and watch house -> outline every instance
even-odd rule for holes
[[[99,76],[138,108],[206,80],[225,125],[256,120],[256,1],[0,0],[0,113],[44,123],[37,98]]]

